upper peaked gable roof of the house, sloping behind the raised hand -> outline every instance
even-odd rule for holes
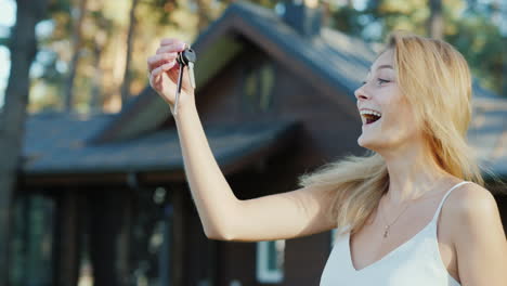
[[[356,116],[353,91],[375,58],[370,47],[329,28],[323,28],[313,38],[302,37],[272,10],[247,2],[232,3],[192,44],[197,53],[197,101],[199,88],[249,44],[259,47],[273,61],[327,94],[338,103],[337,107],[342,106],[343,113]],[[338,91],[348,96],[339,96]],[[155,92],[145,90],[92,141],[135,136],[160,126],[170,116],[167,104]],[[144,125],[146,121],[150,123]]]

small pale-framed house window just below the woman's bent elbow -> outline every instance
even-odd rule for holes
[[[284,280],[285,240],[257,243],[257,280],[281,283]]]

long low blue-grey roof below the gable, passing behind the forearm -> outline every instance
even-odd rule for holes
[[[147,171],[183,171],[176,129],[104,144],[86,144],[110,115],[90,118],[68,114],[30,116],[23,154],[25,174],[79,174]],[[270,154],[289,143],[294,121],[205,126],[219,165],[229,172],[249,164],[252,156]]]

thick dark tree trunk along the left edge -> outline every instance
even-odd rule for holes
[[[9,285],[11,212],[17,169],[21,164],[26,106],[30,87],[28,72],[37,53],[36,24],[47,0],[17,0],[16,25],[10,50],[11,73],[0,128],[0,285]]]

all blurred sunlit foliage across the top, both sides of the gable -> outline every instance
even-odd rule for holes
[[[142,0],[135,16],[133,54],[130,73],[131,94],[141,91],[146,81],[146,57],[154,53],[159,40],[176,37],[186,42],[207,28],[220,16],[231,0]],[[273,9],[280,0],[250,0]],[[326,23],[333,28],[366,41],[382,42],[393,29],[406,29],[427,35],[430,11],[428,0],[379,0],[366,1],[362,10],[349,4],[326,4]],[[487,2],[487,1],[485,1]],[[481,1],[484,3],[484,1]],[[70,12],[78,1],[52,0],[47,23],[53,28],[49,36],[39,38],[40,52],[36,65],[41,73],[35,75],[30,109],[62,108],[62,87],[68,73],[72,57],[75,18]],[[87,109],[92,92],[99,92],[100,104],[106,110],[119,96],[121,75],[125,69],[126,34],[131,1],[88,0],[82,48],[75,80],[77,106]],[[502,86],[502,64],[507,55],[498,27],[492,15],[498,8],[479,4],[478,1],[445,0],[443,17],[444,38],[455,46],[468,60],[476,77],[496,92]],[[5,44],[0,39],[0,44]],[[96,77],[95,75],[101,75]],[[118,76],[120,75],[120,76]],[[51,93],[51,94],[50,94]],[[116,109],[117,110],[117,109]]]

